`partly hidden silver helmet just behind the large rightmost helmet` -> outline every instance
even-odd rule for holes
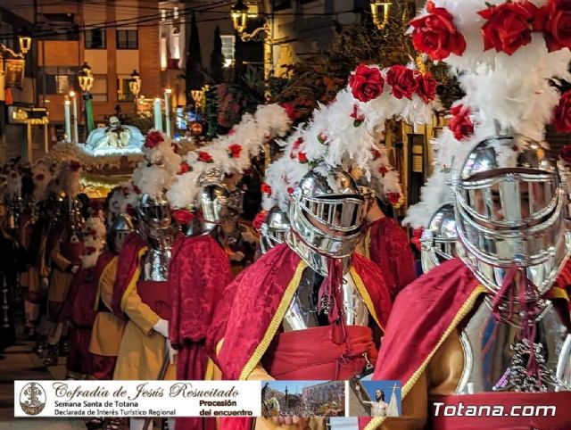
[[[434,212],[420,237],[422,271],[426,273],[445,260],[455,258],[457,238],[454,205],[445,203]]]

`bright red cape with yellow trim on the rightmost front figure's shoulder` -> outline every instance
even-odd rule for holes
[[[407,286],[394,302],[373,379],[401,381],[404,399],[434,352],[485,291],[459,259],[444,262]],[[360,418],[360,427],[368,423],[367,430],[375,429],[383,420]]]

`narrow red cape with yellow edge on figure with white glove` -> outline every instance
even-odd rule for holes
[[[145,251],[145,241],[137,232],[129,234],[121,248],[112,295],[112,311],[119,318],[125,317],[121,306],[123,295],[127,292],[129,285],[137,283],[141,257]]]

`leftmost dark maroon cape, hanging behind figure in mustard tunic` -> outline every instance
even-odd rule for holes
[[[70,293],[60,316],[61,321],[71,319],[78,326],[93,325],[96,314],[93,303],[99,287],[99,278],[112,258],[111,252],[103,252],[94,267],[80,268],[73,276]]]

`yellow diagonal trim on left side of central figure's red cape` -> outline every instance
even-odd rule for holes
[[[279,302],[279,305],[277,306],[276,314],[274,315],[273,318],[271,318],[269,327],[266,330],[266,334],[261,338],[261,342],[258,343],[258,346],[256,347],[255,351],[253,351],[252,357],[250,357],[250,360],[246,362],[244,368],[242,369],[242,372],[240,372],[240,377],[239,377],[240,381],[245,381],[248,378],[248,376],[250,376],[252,370],[258,365],[262,356],[264,355],[266,350],[268,350],[269,343],[271,343],[274,336],[276,335],[277,329],[282,323],[282,319],[284,319],[287,307],[289,306],[289,303],[292,302],[294,294],[297,291],[297,287],[298,285],[300,285],[300,281],[302,280],[303,270],[305,268],[307,268],[307,263],[301,260],[297,265],[297,269],[295,269],[294,277],[292,277],[292,280],[287,285],[287,288],[285,288],[284,296],[282,297],[282,300]]]

